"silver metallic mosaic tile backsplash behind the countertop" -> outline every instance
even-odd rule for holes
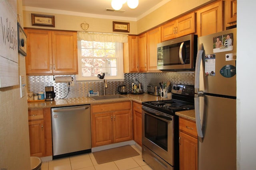
[[[102,82],[78,82],[76,81],[76,75],[72,75],[72,77],[74,79],[74,86],[70,86],[70,91],[68,92],[67,83],[55,83],[54,76],[27,76],[28,92],[44,92],[45,86],[54,86],[56,98],[64,98],[67,94],[67,98],[86,97],[88,96],[90,88],[92,88],[94,92],[98,91],[100,95],[103,95],[103,80]],[[107,80],[108,88],[106,88],[106,94],[113,94],[114,90],[116,94],[118,94],[117,88],[122,84],[125,84],[130,91],[134,78],[137,78],[138,81],[142,83],[144,92],[147,92],[147,85],[158,86],[161,81],[170,81],[171,85],[174,83],[194,85],[194,72],[126,73],[124,74],[124,81]]]

